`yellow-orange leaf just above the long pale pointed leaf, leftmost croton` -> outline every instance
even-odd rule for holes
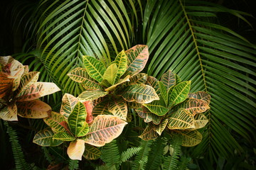
[[[18,86],[17,91],[21,92],[23,89],[25,89],[29,85],[38,81],[39,74],[40,72],[28,72],[26,74],[23,74],[23,76],[21,77],[20,86]]]

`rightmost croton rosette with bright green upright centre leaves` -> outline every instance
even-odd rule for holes
[[[210,108],[210,95],[204,91],[190,94],[191,81],[181,81],[170,70],[163,74],[161,81],[148,77],[146,84],[154,87],[160,100],[144,103],[136,109],[144,122],[149,123],[139,137],[152,140],[168,129],[170,134],[183,136],[183,146],[198,145],[202,135],[197,130],[208,123],[203,112]]]

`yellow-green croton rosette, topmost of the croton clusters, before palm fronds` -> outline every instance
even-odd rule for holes
[[[119,52],[109,65],[95,57],[84,56],[85,68],[73,69],[68,76],[85,88],[80,102],[97,100],[93,114],[112,114],[127,120],[127,106],[159,100],[153,87],[146,83],[147,74],[140,73],[149,59],[146,45],[136,45]]]

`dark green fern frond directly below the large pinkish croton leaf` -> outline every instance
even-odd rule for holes
[[[112,142],[106,144],[103,147],[102,155],[100,158],[109,167],[121,162],[119,149],[117,147],[117,140],[112,140]]]

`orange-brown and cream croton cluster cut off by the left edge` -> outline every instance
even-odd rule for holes
[[[46,118],[51,108],[38,98],[60,91],[53,83],[37,82],[39,72],[28,72],[11,56],[0,57],[0,118]]]

